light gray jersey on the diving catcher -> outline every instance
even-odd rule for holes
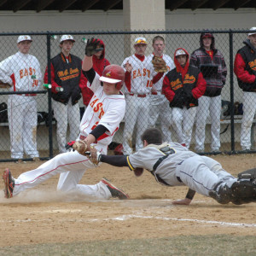
[[[160,158],[166,154],[162,152],[162,148],[170,148],[168,156],[162,160],[156,168],[154,167]],[[161,145],[149,144],[147,147],[140,149],[137,153],[128,157],[128,163],[131,170],[137,167],[147,169],[149,172],[157,174],[169,185],[177,185],[176,168],[183,160],[196,154],[189,149],[183,147],[179,143],[163,143]],[[154,170],[155,169],[155,170]]]

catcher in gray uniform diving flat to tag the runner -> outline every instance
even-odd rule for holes
[[[142,141],[143,148],[135,154],[96,153],[91,154],[91,160],[112,166],[127,166],[137,176],[142,175],[145,168],[159,183],[167,186],[187,185],[190,192],[194,190],[210,196],[221,204],[256,202],[256,179],[252,176],[233,177],[216,160],[195,154],[179,143],[162,143],[162,135],[156,128],[144,131]],[[188,204],[193,196],[194,193],[190,194],[187,201],[182,203]]]

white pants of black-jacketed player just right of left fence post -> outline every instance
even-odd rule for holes
[[[80,109],[79,103],[72,105],[71,98],[67,105],[52,101],[54,117],[57,120],[57,141],[60,153],[65,153],[67,141],[74,141],[79,136]],[[67,123],[69,124],[69,139],[67,139]]]

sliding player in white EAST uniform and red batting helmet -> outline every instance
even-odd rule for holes
[[[84,143],[87,150],[97,150],[107,154],[108,144],[119,129],[119,123],[125,115],[125,96],[120,89],[125,80],[122,67],[109,65],[100,77],[92,68],[92,55],[96,53],[97,39],[91,39],[85,47],[83,73],[90,82],[90,90],[94,91],[89,106],[84,112],[80,123],[79,143]],[[101,85],[102,83],[102,85]],[[73,148],[75,142],[67,143],[66,148]],[[96,148],[96,149],[95,149]],[[65,192],[78,192],[84,196],[97,199],[118,197],[127,199],[128,195],[116,188],[107,179],[102,178],[95,185],[79,184],[87,168],[95,165],[90,159],[77,151],[58,154],[55,158],[45,162],[42,166],[30,172],[22,173],[13,178],[9,169],[3,172],[4,194],[6,198],[18,195],[25,189],[30,189],[44,182],[49,177],[61,173],[57,189]]]

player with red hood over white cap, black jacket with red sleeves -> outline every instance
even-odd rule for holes
[[[186,49],[175,50],[174,62],[176,67],[164,79],[163,93],[172,108],[172,125],[177,142],[189,148],[198,98],[205,93],[207,83],[198,68],[189,67]]]

